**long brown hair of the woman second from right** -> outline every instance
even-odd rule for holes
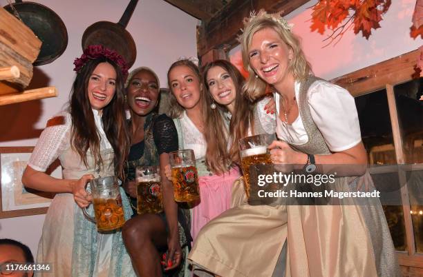
[[[223,122],[223,112],[229,112],[227,107],[216,104],[216,109],[211,109],[213,102],[212,95],[203,98],[203,110],[206,115],[205,140],[207,142],[207,165],[214,172],[226,172],[227,165],[232,163],[240,164],[238,141],[247,136],[248,129],[253,128],[254,123],[254,105],[248,101],[242,94],[242,86],[245,81],[243,75],[229,61],[216,60],[208,63],[203,68],[203,84],[209,92],[207,83],[207,72],[211,68],[218,66],[227,71],[235,86],[235,110],[229,123],[229,139],[225,132],[227,127]],[[230,143],[229,150],[227,149]]]

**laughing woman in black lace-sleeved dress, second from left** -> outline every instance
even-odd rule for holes
[[[123,227],[124,243],[138,276],[162,276],[160,252],[165,249],[168,250],[164,271],[178,267],[182,258],[178,206],[173,200],[173,185],[163,175],[164,166],[169,165],[169,152],[178,150],[178,136],[173,121],[154,111],[158,105],[159,88],[158,77],[149,68],[133,70],[126,81],[126,99],[131,112],[131,150],[126,162],[124,187],[131,196],[136,215],[135,168],[160,165],[164,205],[164,213],[134,216]]]

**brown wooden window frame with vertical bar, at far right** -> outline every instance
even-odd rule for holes
[[[388,109],[393,132],[395,157],[398,165],[404,165],[403,141],[395,102],[394,86],[415,78],[420,78],[416,70],[417,60],[420,59],[420,50],[413,50],[393,59],[370,65],[361,70],[339,76],[330,80],[350,92],[354,97],[386,89]],[[417,76],[416,76],[417,75]],[[422,165],[418,163],[417,165]],[[405,172],[400,171],[400,182],[406,181]],[[423,254],[417,253],[413,234],[413,221],[410,213],[408,187],[401,187],[402,209],[406,229],[406,251],[397,251],[400,265],[423,268]]]

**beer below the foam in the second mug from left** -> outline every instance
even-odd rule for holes
[[[162,187],[160,181],[138,181],[137,213],[158,214],[163,212]]]

